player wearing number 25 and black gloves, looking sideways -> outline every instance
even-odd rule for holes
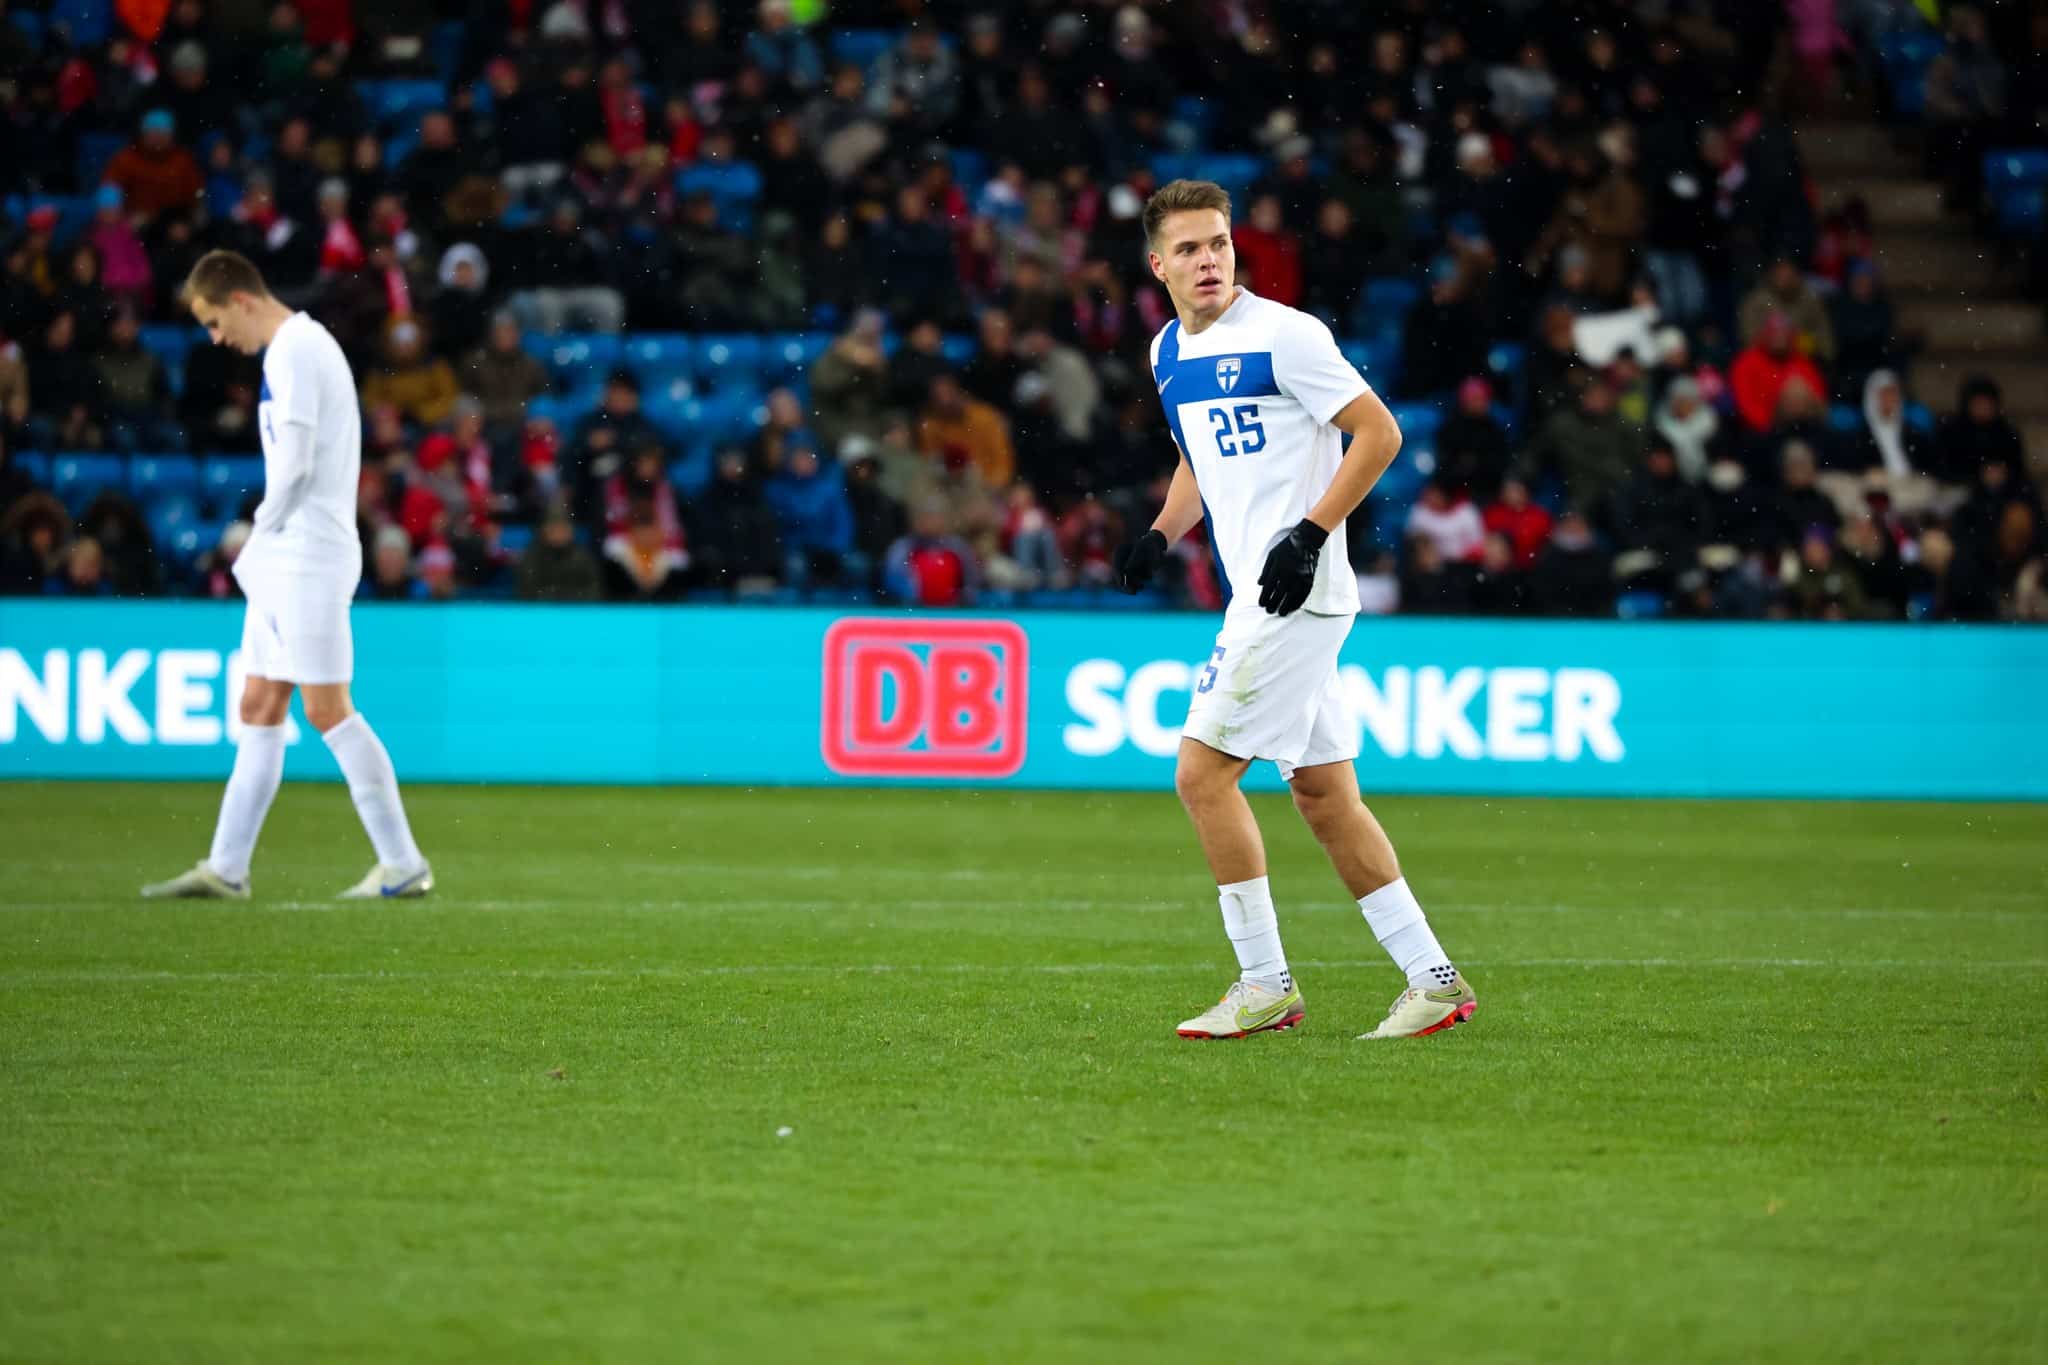
[[[1280,948],[1266,845],[1237,788],[1272,759],[1407,988],[1364,1038],[1421,1038],[1473,1017],[1380,823],[1358,796],[1360,726],[1337,681],[1358,616],[1343,520],[1401,450],[1393,413],[1315,317],[1237,284],[1231,196],[1174,180],[1145,205],[1147,260],[1178,317],[1153,340],[1153,383],[1180,467],[1151,530],[1116,553],[1139,591],[1208,520],[1229,604],[1194,684],[1174,786],[1217,876],[1239,980],[1182,1038],[1245,1038],[1303,1021]],[[1350,450],[1346,450],[1350,436]]]

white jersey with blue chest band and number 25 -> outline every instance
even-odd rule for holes
[[[1266,553],[1329,489],[1343,432],[1329,420],[1366,391],[1321,321],[1239,287],[1200,334],[1169,321],[1151,348],[1174,442],[1194,467],[1229,612],[1257,610]],[[1358,614],[1343,526],[1329,534],[1305,610]]]

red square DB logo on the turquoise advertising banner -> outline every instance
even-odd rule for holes
[[[825,630],[825,767],[848,778],[1008,778],[1024,767],[1024,630],[1008,620],[848,618]]]

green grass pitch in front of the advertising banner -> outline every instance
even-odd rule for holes
[[[0,1361],[2040,1361],[2048,808],[1282,800],[1294,1033],[1171,796],[0,786]],[[778,1136],[784,1130],[786,1136]]]

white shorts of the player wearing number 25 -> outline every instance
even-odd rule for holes
[[[1288,782],[1296,767],[1356,759],[1358,718],[1337,681],[1337,651],[1354,620],[1225,616],[1182,733],[1239,759],[1272,759]]]

